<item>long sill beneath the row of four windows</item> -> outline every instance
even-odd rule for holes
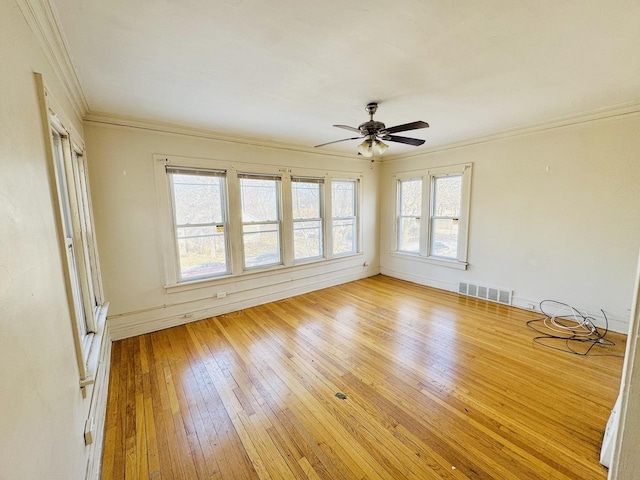
[[[217,286],[227,285],[230,283],[235,283],[239,279],[243,279],[243,278],[268,277],[273,275],[276,272],[304,271],[306,269],[317,268],[319,265],[329,265],[332,263],[344,262],[348,260],[353,260],[358,257],[364,257],[364,255],[362,253],[353,253],[350,255],[341,255],[339,257],[333,257],[330,259],[323,258],[318,260],[309,260],[309,261],[305,261],[304,263],[301,262],[301,263],[296,263],[294,265],[288,265],[288,266],[274,265],[271,267],[264,267],[257,270],[256,269],[246,270],[244,272],[236,273],[232,275],[224,275],[224,276],[215,277],[215,278],[202,278],[202,279],[193,280],[190,282],[167,284],[164,286],[164,289],[167,293],[185,292],[185,291],[194,290],[197,288],[210,287],[213,285],[217,285]]]

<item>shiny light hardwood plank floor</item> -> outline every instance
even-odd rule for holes
[[[605,479],[622,359],[533,317],[376,276],[116,342],[102,478]]]

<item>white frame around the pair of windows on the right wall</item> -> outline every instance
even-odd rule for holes
[[[396,209],[394,219],[394,240],[392,252],[399,256],[411,256],[420,259],[426,263],[441,265],[451,268],[466,270],[468,267],[468,243],[469,243],[469,210],[471,200],[471,176],[473,164],[465,163],[459,165],[450,165],[443,167],[435,167],[426,171],[413,171],[396,173],[392,176],[396,189]],[[432,253],[432,231],[433,221],[438,217],[433,214],[434,204],[434,181],[436,178],[446,177],[450,175],[462,176],[462,192],[460,199],[460,217],[458,218],[458,250],[456,258],[450,259],[437,256]],[[398,235],[400,222],[400,184],[402,181],[422,180],[422,211],[420,222],[420,252],[405,252],[399,250]],[[425,220],[425,214],[428,218]]]

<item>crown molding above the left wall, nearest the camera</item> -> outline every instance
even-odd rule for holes
[[[51,3],[49,0],[16,0],[16,3],[81,122],[89,105]]]

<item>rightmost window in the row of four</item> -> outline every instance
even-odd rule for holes
[[[331,182],[331,229],[333,255],[356,253],[358,217],[357,181]]]

